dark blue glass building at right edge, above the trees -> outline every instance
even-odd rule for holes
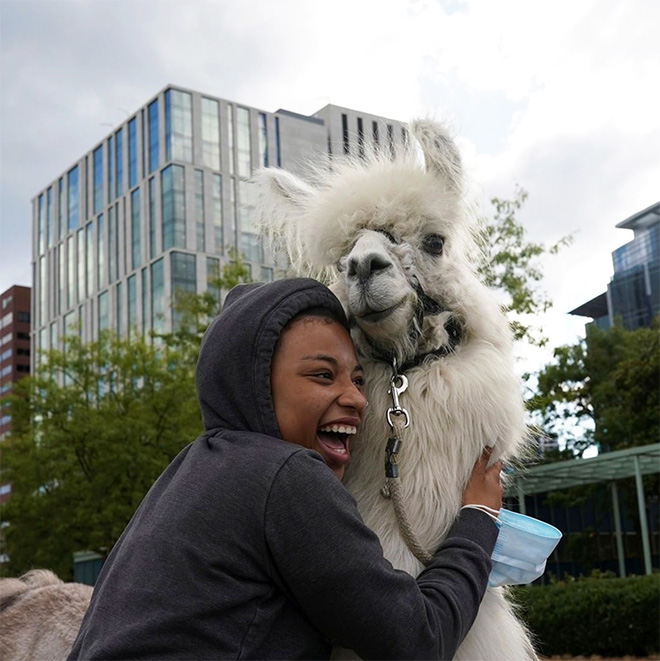
[[[660,314],[660,202],[617,224],[634,238],[612,253],[614,275],[607,291],[572,310],[599,328],[616,320],[627,330],[650,326]]]

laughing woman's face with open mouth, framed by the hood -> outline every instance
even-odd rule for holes
[[[353,341],[338,322],[302,317],[282,331],[270,370],[280,434],[316,450],[340,479],[364,415],[362,380]]]

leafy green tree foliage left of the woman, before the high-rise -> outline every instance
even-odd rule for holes
[[[42,356],[8,402],[2,450],[5,573],[47,567],[72,576],[72,553],[105,556],[154,480],[201,431],[195,363],[220,293],[249,272],[234,255],[210,292],[177,297],[172,333],[103,332]]]

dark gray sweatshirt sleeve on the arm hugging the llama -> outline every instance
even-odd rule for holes
[[[266,541],[277,573],[334,644],[363,659],[450,659],[471,627],[497,528],[463,510],[417,577],[384,558],[354,499],[320,457],[296,452],[273,481]]]

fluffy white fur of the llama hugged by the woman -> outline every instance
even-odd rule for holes
[[[354,325],[371,406],[352,444],[345,483],[386,557],[417,575],[422,565],[380,493],[392,375],[382,358],[393,355],[402,364],[440,347],[448,352],[406,372],[401,400],[411,419],[399,454],[401,482],[427,549],[438,546],[458,515],[484,446],[494,446],[493,460],[512,461],[523,452],[526,433],[509,325],[476,275],[480,254],[458,150],[436,123],[414,122],[411,133],[424,163],[410,148],[394,159],[376,153],[333,161],[332,170],[311,172],[311,183],[277,169],[262,170],[257,179],[262,227],[286,249],[294,274],[333,283]],[[425,316],[421,328],[417,283],[443,309]],[[460,328],[455,346],[449,322]],[[502,589],[487,591],[456,658],[536,658]]]

